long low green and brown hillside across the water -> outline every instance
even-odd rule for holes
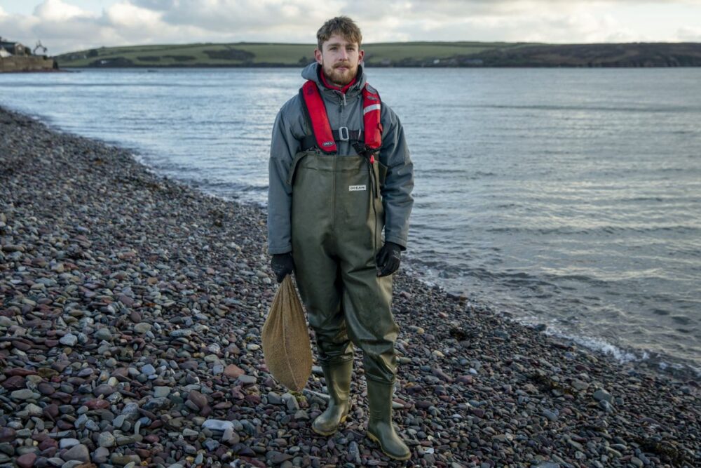
[[[378,67],[698,67],[701,44],[394,42],[365,44]],[[67,67],[299,67],[313,44],[171,44],[102,47],[58,55]]]

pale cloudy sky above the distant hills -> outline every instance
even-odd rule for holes
[[[701,42],[701,0],[0,0],[0,36],[58,54],[190,42],[313,44],[346,14],[364,41]]]

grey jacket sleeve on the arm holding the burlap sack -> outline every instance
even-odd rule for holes
[[[287,183],[299,141],[285,119],[290,102],[275,117],[268,162],[268,253],[292,251],[292,186]]]

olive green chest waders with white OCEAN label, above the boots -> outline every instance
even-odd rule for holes
[[[392,279],[377,277],[375,267],[384,225],[379,163],[301,152],[288,182],[295,276],[320,363],[351,361],[353,342],[362,349],[365,376],[393,383]]]

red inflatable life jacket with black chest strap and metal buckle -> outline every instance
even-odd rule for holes
[[[308,147],[318,147],[326,154],[336,154],[338,152],[336,140],[360,140],[362,133],[363,144],[360,147],[357,144],[353,146],[359,154],[368,156],[370,162],[374,162],[374,153],[382,146],[382,124],[380,123],[382,101],[375,88],[367,83],[362,87],[362,121],[365,127],[362,132],[349,131],[348,127],[332,130],[324,100],[314,81],[309,80],[304,83],[299,93],[313,133],[304,139],[307,140],[306,142],[303,140],[303,150]]]

